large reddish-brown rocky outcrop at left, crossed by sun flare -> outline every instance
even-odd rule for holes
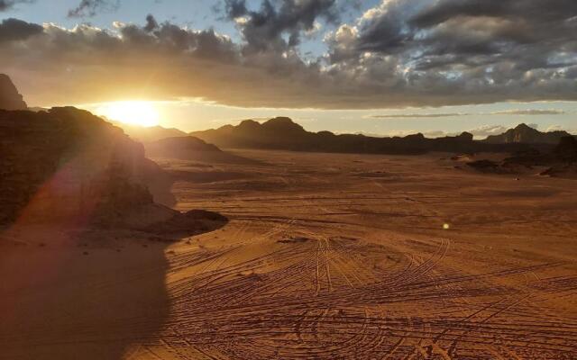
[[[120,223],[153,204],[140,143],[75,108],[0,110],[0,223]]]

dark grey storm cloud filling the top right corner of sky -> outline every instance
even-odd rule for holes
[[[363,16],[353,46],[359,51],[413,50],[445,58],[501,54],[543,40],[541,46],[547,49],[567,41],[575,49],[575,16],[573,0],[390,0]]]

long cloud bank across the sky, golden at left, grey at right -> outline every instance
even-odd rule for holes
[[[153,15],[114,29],[47,24],[43,36],[38,27],[18,36],[2,30],[0,67],[30,77],[36,87],[26,90],[42,103],[143,93],[331,109],[577,101],[574,0],[381,0],[348,23],[343,5],[359,2],[255,3],[220,6],[238,41]],[[83,0],[70,15],[117,4]],[[302,55],[301,41],[315,31],[325,31],[325,54]],[[54,94],[60,85],[68,86],[66,97]],[[510,114],[557,113],[499,113]]]

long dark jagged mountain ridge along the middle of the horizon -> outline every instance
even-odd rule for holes
[[[286,117],[260,123],[245,120],[237,126],[195,131],[191,135],[221,148],[262,148],[295,151],[325,151],[373,154],[422,154],[428,151],[474,152],[523,148],[518,144],[495,146],[474,141],[472,134],[426,139],[423,134],[404,138],[374,138],[361,134],[335,135],[330,131],[310,132]]]

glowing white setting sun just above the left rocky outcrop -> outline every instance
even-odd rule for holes
[[[122,101],[105,103],[96,112],[112,121],[151,127],[159,124],[159,112],[154,103],[147,101]]]

